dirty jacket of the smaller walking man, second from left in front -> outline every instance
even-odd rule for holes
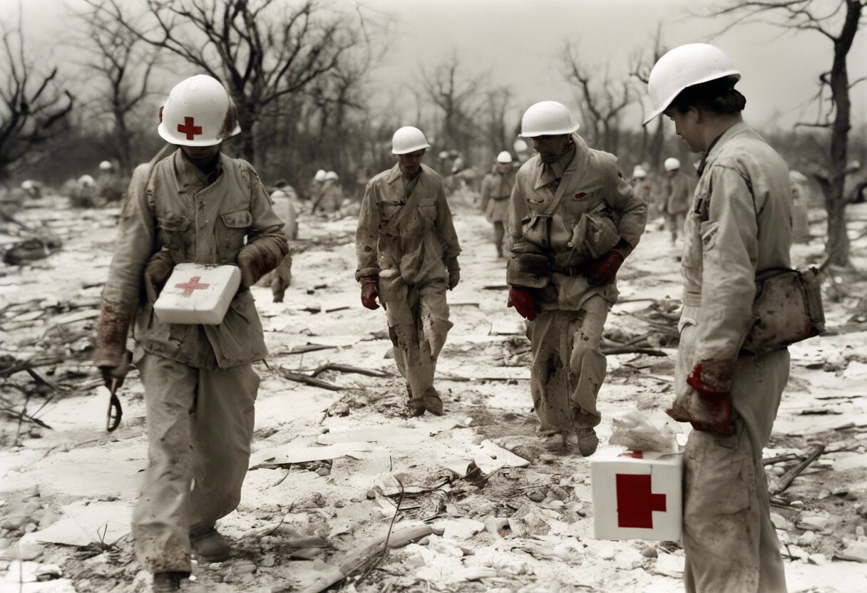
[[[419,194],[418,207],[390,236],[381,231],[407,201],[401,168],[394,165],[368,181],[355,234],[356,280],[376,278],[380,270],[392,269],[400,270],[407,284],[414,284],[438,263],[446,264],[449,270],[457,265],[460,244],[442,179],[427,165],[421,166],[419,175],[413,192]]]

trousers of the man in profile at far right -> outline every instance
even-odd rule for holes
[[[692,369],[694,326],[681,333],[675,388]],[[789,353],[740,356],[731,435],[693,431],[683,454],[683,572],[688,593],[786,593],[762,449],[789,376]]]

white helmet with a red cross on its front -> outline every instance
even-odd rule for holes
[[[184,147],[212,147],[241,131],[238,111],[216,78],[180,81],[160,108],[160,136]]]

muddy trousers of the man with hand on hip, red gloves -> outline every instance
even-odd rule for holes
[[[602,296],[590,296],[580,310],[542,311],[527,323],[540,430],[571,433],[602,420],[596,395],[608,368],[601,342],[609,306]]]

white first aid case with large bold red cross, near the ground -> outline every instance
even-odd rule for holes
[[[683,455],[601,449],[590,458],[596,539],[678,541]]]

